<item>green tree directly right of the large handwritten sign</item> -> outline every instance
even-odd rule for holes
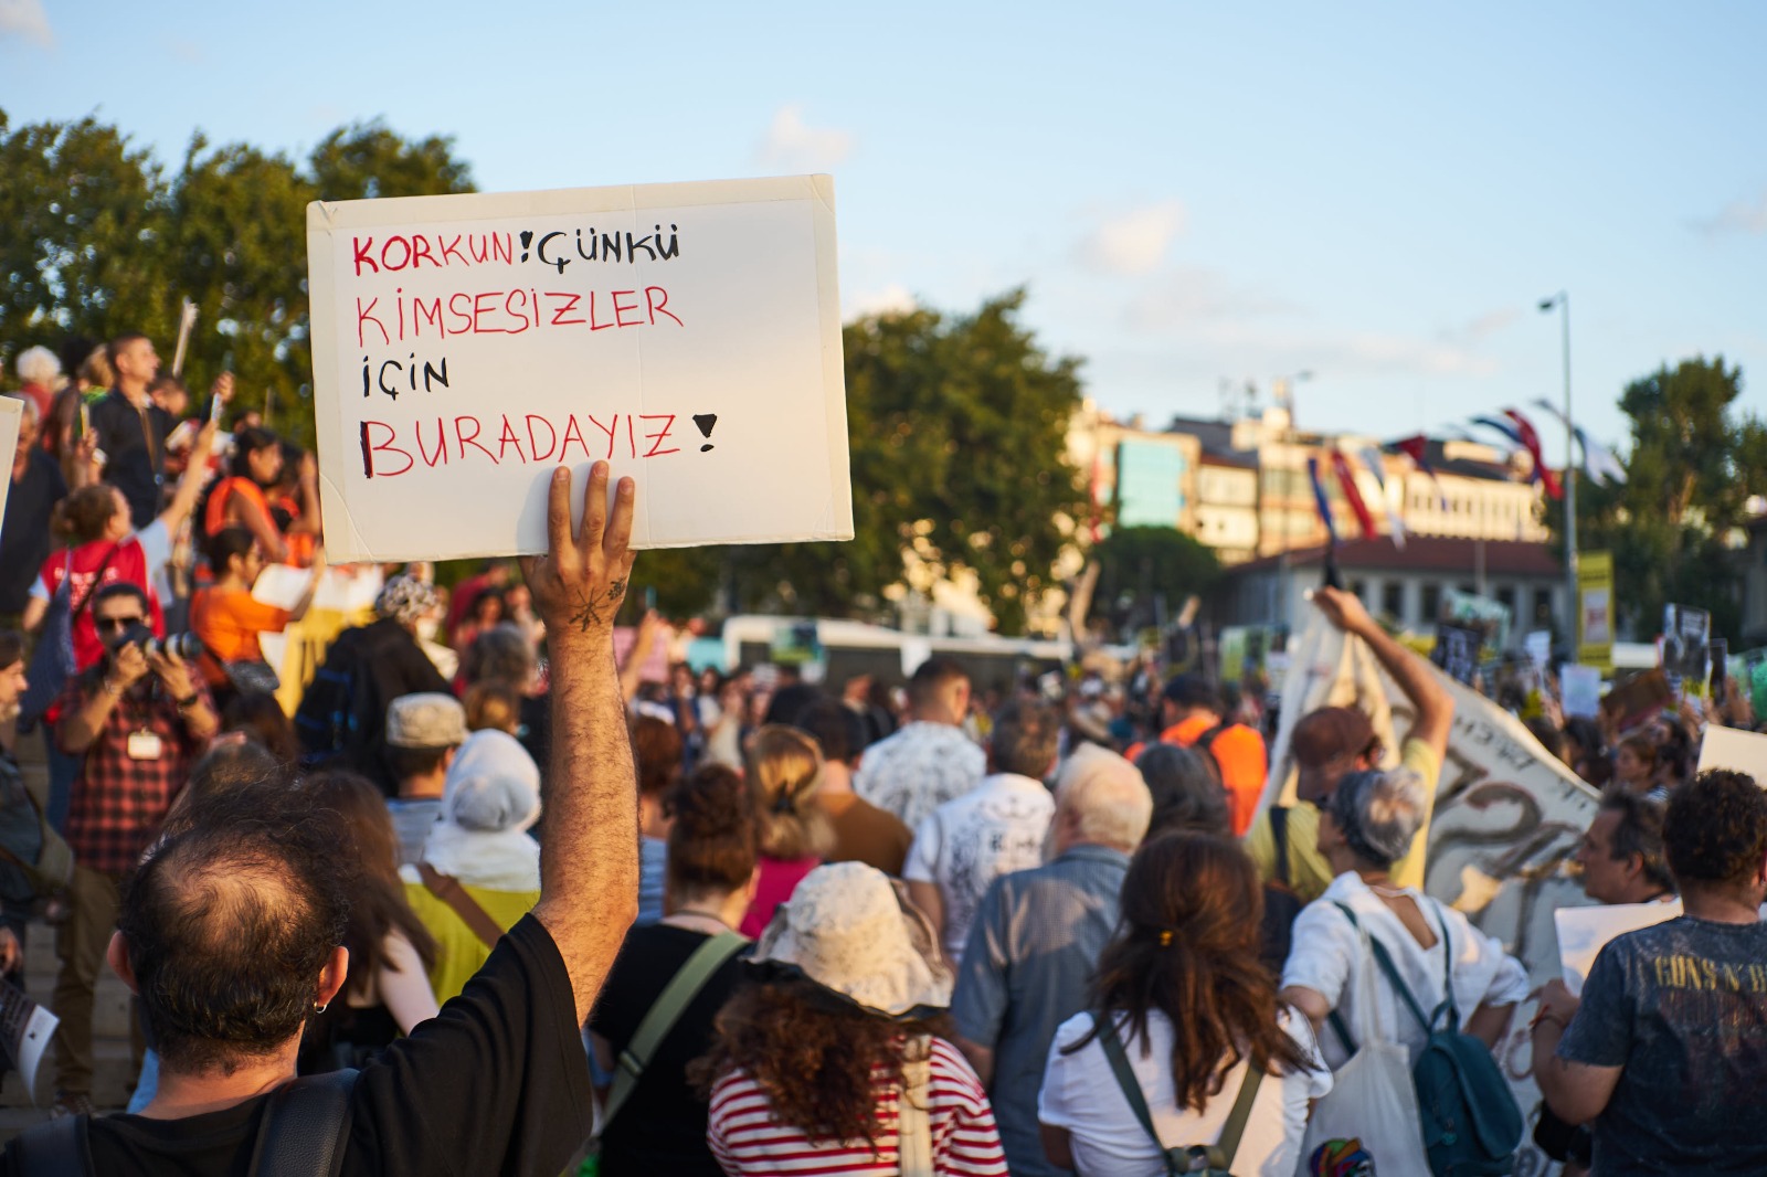
[[[724,550],[739,604],[875,615],[892,585],[974,574],[1000,629],[1023,631],[1087,505],[1066,447],[1080,361],[1037,346],[1023,302],[846,325],[853,539]]]

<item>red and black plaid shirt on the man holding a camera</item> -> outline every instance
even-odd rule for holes
[[[101,673],[85,673],[67,684],[62,695],[62,726],[102,689]],[[209,703],[201,682],[196,693]],[[159,756],[129,758],[129,735],[152,732],[159,737]],[[145,675],[104,716],[85,767],[74,781],[67,809],[67,845],[74,861],[87,869],[125,875],[159,836],[166,811],[191,778],[191,762],[203,751],[184,726],[178,705],[155,675]]]

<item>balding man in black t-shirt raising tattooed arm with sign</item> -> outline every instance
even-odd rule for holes
[[[576,535],[569,495],[560,468],[550,551],[523,567],[553,656],[541,901],[438,1018],[360,1071],[346,1175],[557,1173],[590,1129],[578,1027],[638,912],[638,781],[613,663],[634,491],[620,479],[610,516],[608,465],[595,463]],[[295,1078],[306,1018],[345,999],[345,841],[334,813],[283,781],[201,799],[168,824],[110,944],[152,1029],[159,1089],[141,1115],[83,1124],[94,1172],[247,1172],[270,1094]],[[0,1172],[44,1172],[25,1154],[42,1133],[7,1145]]]

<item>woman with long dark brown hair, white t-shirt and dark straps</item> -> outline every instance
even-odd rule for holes
[[[1166,1173],[1168,1150],[1219,1145],[1221,1168],[1290,1177],[1331,1073],[1258,961],[1258,869],[1225,836],[1166,834],[1129,862],[1120,912],[1092,977],[1096,1013],[1050,1044],[1037,1103],[1050,1161]]]

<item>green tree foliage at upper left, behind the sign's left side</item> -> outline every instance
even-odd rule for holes
[[[12,127],[0,111],[0,361],[44,343],[145,330],[171,359],[198,308],[186,378],[231,364],[246,405],[313,440],[306,205],[472,191],[452,141],[380,124],[329,134],[302,164],[196,134],[168,173],[95,118]]]

